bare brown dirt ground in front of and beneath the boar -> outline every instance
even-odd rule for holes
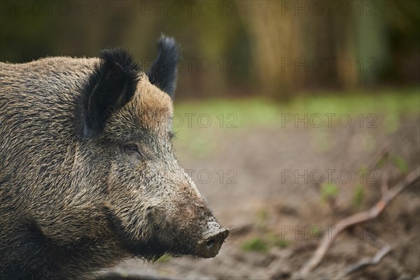
[[[177,145],[179,160],[186,169],[195,169],[193,180],[216,217],[235,230],[216,258],[126,260],[116,269],[169,279],[293,279],[328,228],[379,200],[380,170],[372,169],[376,173],[368,176],[358,170],[367,168],[381,148],[403,158],[408,171],[419,165],[419,127],[418,118],[409,118],[393,132],[381,130],[380,120],[379,128],[372,130],[357,125],[222,130],[214,136],[217,148],[205,157],[195,156],[188,145]],[[318,180],[322,174],[326,181],[325,170],[330,169],[338,186],[333,206],[323,200]],[[211,180],[203,173],[198,176],[202,170],[211,174]],[[393,186],[404,175],[396,168],[391,171]],[[349,172],[347,181],[343,177]],[[363,199],[356,205],[360,178],[370,181],[363,185]],[[346,267],[377,253],[374,244],[379,243],[389,244],[391,253],[346,279],[420,279],[419,214],[417,183],[396,197],[379,218],[363,224],[367,231],[343,232],[309,278],[337,278]]]

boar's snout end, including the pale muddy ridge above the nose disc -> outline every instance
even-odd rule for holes
[[[216,221],[207,222],[207,232],[198,243],[197,255],[201,258],[214,258],[229,235],[228,228],[222,228]]]

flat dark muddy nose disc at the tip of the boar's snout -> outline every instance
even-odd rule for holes
[[[214,258],[229,233],[228,228],[222,228],[205,235],[205,238],[197,246],[197,255],[201,258]]]

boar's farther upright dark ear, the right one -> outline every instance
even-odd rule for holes
[[[161,36],[158,41],[158,57],[146,73],[149,81],[167,92],[172,99],[178,78],[176,71],[179,60],[179,48],[174,38]]]

